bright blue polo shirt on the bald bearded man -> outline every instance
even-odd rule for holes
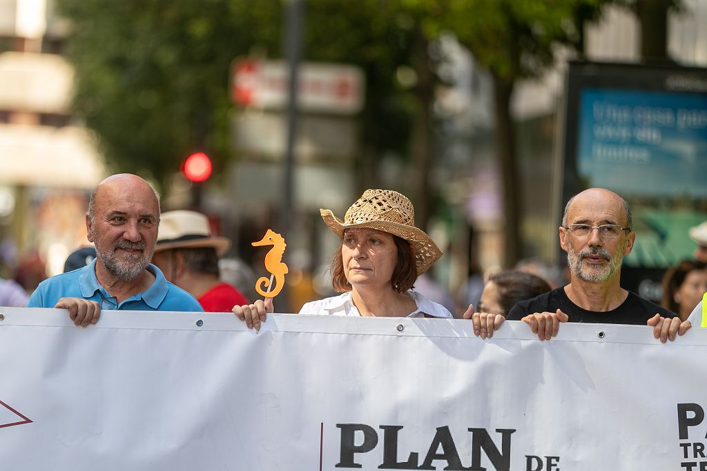
[[[117,304],[95,277],[94,258],[90,265],[44,280],[30,297],[28,307],[54,307],[63,297],[78,297],[98,302],[101,309],[123,311],[204,311],[201,304],[182,288],[168,282],[153,264],[147,270],[155,275],[155,282],[144,292],[135,294]]]

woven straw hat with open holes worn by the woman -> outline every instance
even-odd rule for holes
[[[437,244],[415,227],[415,210],[402,194],[392,190],[366,190],[346,211],[344,220],[328,209],[320,209],[322,219],[341,239],[344,229],[368,227],[397,235],[415,249],[417,274],[422,275],[442,256]]]

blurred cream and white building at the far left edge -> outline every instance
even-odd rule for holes
[[[107,173],[71,116],[66,28],[52,0],[0,0],[0,261],[10,272],[33,258],[47,275],[62,270],[86,243],[87,190]]]

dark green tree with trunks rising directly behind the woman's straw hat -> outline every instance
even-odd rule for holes
[[[363,151],[358,186],[378,186],[380,157],[392,153],[415,169],[399,186],[415,202],[416,222],[425,227],[433,155],[435,64],[423,21],[427,5],[400,0],[307,0],[308,59],[356,64],[366,73],[361,117]],[[407,74],[409,81],[400,80]]]

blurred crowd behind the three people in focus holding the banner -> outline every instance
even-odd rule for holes
[[[182,210],[165,212],[151,261],[168,281],[197,297],[207,311],[230,311],[235,305],[255,301],[255,267],[233,255],[228,238],[212,232],[206,215]],[[667,269],[662,279],[661,305],[682,321],[707,292],[707,222],[692,227],[689,237],[696,243],[694,257]],[[25,306],[29,294],[47,278],[45,263],[37,251],[18,257],[8,241],[0,248],[0,305]],[[77,247],[66,258],[64,272],[89,265],[95,258],[92,245]],[[472,263],[467,280],[454,292],[440,285],[431,271],[420,273],[414,290],[457,318],[462,318],[470,304],[477,311],[506,316],[516,302],[555,290],[569,281],[568,267],[529,259],[513,270],[486,273]],[[312,273],[293,263],[286,293],[288,311],[297,312],[308,302],[335,294],[332,273],[323,269]]]

